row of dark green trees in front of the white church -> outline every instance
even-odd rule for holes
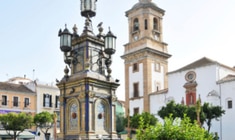
[[[172,115],[172,118],[183,118],[184,114],[186,114],[191,123],[195,120],[200,119],[200,124],[203,125],[205,122],[208,126],[208,132],[210,131],[211,121],[213,119],[217,119],[221,117],[225,111],[222,110],[220,106],[212,106],[209,103],[204,103],[200,108],[200,106],[185,106],[182,104],[176,104],[175,102],[169,102],[165,107],[162,107],[161,110],[158,111],[158,115],[164,119],[165,117],[169,117]],[[197,118],[197,116],[199,116]],[[199,123],[199,122],[198,122]]]

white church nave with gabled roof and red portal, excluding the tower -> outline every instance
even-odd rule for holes
[[[168,73],[168,91],[149,95],[150,113],[157,115],[169,101],[193,105],[200,97],[204,102],[222,106],[225,115],[212,122],[211,132],[218,132],[225,140],[233,139],[232,118],[235,116],[235,69],[208,58],[202,58]],[[222,135],[221,135],[222,134]]]

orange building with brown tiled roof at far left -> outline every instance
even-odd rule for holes
[[[21,84],[0,82],[0,114],[36,113],[36,93]]]

